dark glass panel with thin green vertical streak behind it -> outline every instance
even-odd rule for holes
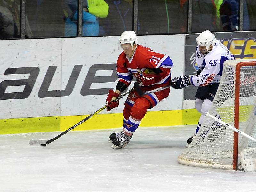
[[[138,34],[186,33],[187,0],[142,0],[138,3]]]

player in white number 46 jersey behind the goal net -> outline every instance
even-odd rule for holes
[[[206,113],[212,105],[212,101],[220,84],[223,63],[226,60],[235,59],[228,48],[216,40],[210,31],[202,32],[197,38],[196,62],[199,67],[197,75],[175,77],[171,83],[175,89],[182,89],[193,85],[198,87],[196,91],[196,110],[201,113],[196,128],[196,133],[203,123]],[[187,146],[192,142],[196,134],[187,140]]]

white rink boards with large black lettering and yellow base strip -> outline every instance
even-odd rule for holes
[[[139,36],[138,44],[169,55],[176,77],[185,70],[185,36]],[[1,41],[0,134],[64,131],[103,107],[108,90],[117,83],[117,41],[118,37]],[[141,126],[196,124],[200,114],[193,100],[183,101],[183,91],[171,88],[168,98],[148,110]],[[121,127],[124,101],[76,130]]]

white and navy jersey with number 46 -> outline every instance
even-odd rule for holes
[[[224,61],[233,59],[235,59],[234,55],[232,55],[228,48],[219,40],[215,41],[214,47],[205,56],[201,54],[199,46],[197,45],[196,62],[197,66],[202,69],[202,73],[200,73],[200,75],[191,76],[191,84],[199,87],[219,83]]]

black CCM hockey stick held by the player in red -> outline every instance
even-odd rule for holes
[[[142,85],[142,83],[138,84],[138,86]],[[123,98],[125,95],[128,95],[130,92],[134,91],[135,87],[133,87],[132,89],[130,89],[129,91],[125,92],[124,94],[120,95],[118,98],[116,98],[114,101],[112,102],[116,102],[118,100],[120,100],[121,98]],[[85,121],[87,121],[88,119],[92,118],[94,115],[96,115],[97,113],[99,113],[100,111],[104,110],[105,108],[107,108],[106,106],[100,108],[99,110],[95,111],[94,113],[92,113],[91,115],[87,116],[86,118],[84,118],[83,120],[79,121],[77,124],[73,125],[72,127],[70,127],[69,129],[67,129],[66,131],[60,133],[59,135],[57,135],[56,137],[54,137],[53,139],[32,139],[29,141],[30,145],[33,144],[40,144],[41,146],[46,146],[46,144],[50,144],[52,141],[55,141],[56,139],[60,138],[61,136],[65,135],[67,132],[71,131],[72,129],[74,129],[75,127],[77,127],[78,125],[81,125],[82,123],[84,123]]]

